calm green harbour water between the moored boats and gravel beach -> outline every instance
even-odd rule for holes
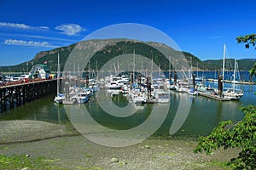
[[[206,83],[207,86],[217,86],[217,83],[215,82]],[[229,86],[231,85],[225,84],[225,87]],[[256,95],[254,94],[254,92],[256,92],[256,86],[237,85],[236,88],[241,88],[244,91],[244,96],[240,101],[221,102],[201,96],[193,97],[185,94],[186,98],[192,102],[192,105],[183,126],[174,135],[189,137],[207,135],[212,131],[213,127],[218,125],[218,122],[226,120],[232,120],[234,122],[240,121],[243,117],[243,113],[239,110],[239,107],[244,105],[256,105]],[[154,136],[169,136],[169,129],[172,125],[174,116],[176,116],[177,107],[180,102],[183,102],[183,100],[181,100],[181,95],[183,94],[178,94],[177,92],[170,93],[171,103],[168,114],[160,128],[154,133]],[[54,94],[49,95],[18,108],[0,113],[0,120],[28,119],[61,124],[69,123],[64,106],[56,105],[53,102],[54,96]],[[118,107],[125,107],[125,105],[128,104],[128,99],[122,94],[113,97],[112,100]],[[154,104],[143,105],[141,109],[132,116],[122,118],[105,114],[101,107],[94,101],[94,98],[92,98],[89,103],[85,104],[90,115],[96,122],[113,129],[129,129],[131,127],[136,127],[148,118],[153,105]],[[161,114],[161,110],[159,109],[158,111],[159,114]]]

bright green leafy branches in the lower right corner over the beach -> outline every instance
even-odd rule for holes
[[[200,137],[194,152],[206,151],[207,155],[217,148],[241,148],[239,156],[230,160],[234,169],[256,168],[256,105],[241,108],[245,116],[241,122],[220,122],[207,137]]]

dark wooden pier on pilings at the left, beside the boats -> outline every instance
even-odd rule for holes
[[[0,112],[56,93],[56,84],[56,79],[50,79],[0,87]]]

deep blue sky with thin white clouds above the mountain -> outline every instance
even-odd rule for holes
[[[0,0],[0,65],[20,64],[119,23],[152,26],[202,60],[221,59],[224,43],[228,57],[256,59],[254,48],[236,43],[256,33],[255,8],[251,0]]]

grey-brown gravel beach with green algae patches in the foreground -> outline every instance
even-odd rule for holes
[[[206,156],[193,153],[196,144],[189,139],[147,139],[139,144],[111,148],[94,144],[65,125],[0,122],[1,156],[44,156],[52,160],[49,169],[224,169],[227,167],[220,167],[219,162],[229,161],[239,151],[216,150],[212,156]]]

